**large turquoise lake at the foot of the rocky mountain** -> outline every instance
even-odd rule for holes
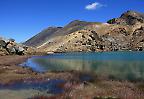
[[[119,80],[144,80],[144,52],[55,53],[29,58],[22,66],[37,72],[81,71]]]

